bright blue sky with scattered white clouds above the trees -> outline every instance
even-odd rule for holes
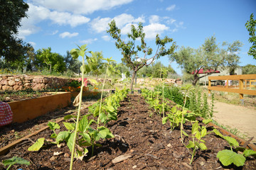
[[[35,50],[51,47],[52,52],[66,55],[76,44],[88,44],[88,50],[102,51],[104,57],[121,62],[121,52],[106,33],[107,23],[115,19],[122,34],[129,32],[132,23],[142,22],[146,43],[156,48],[155,36],[168,35],[178,47],[201,46],[206,38],[215,35],[218,43],[240,40],[240,66],[255,64],[245,23],[254,13],[255,0],[28,0],[28,18],[23,18],[18,37],[30,42]],[[154,54],[154,51],[153,51]],[[181,69],[168,57],[159,59],[178,74]]]

